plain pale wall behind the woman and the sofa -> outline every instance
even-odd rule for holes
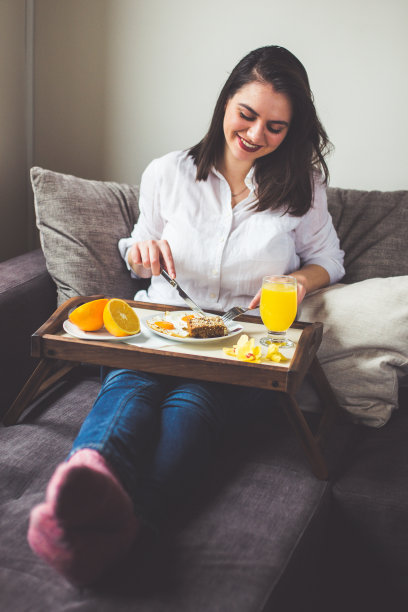
[[[331,184],[408,188],[407,0],[30,3],[35,164],[138,182],[153,157],[203,136],[243,55],[280,44],[308,70],[336,147]],[[0,260],[33,235],[25,5],[0,0]]]

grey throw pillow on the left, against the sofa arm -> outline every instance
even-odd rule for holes
[[[75,295],[132,299],[132,279],[118,251],[139,215],[138,188],[31,169],[34,206],[58,304]]]

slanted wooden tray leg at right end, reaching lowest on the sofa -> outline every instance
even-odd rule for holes
[[[329,470],[326,461],[319,448],[318,440],[310,430],[297,401],[289,394],[284,394],[283,401],[286,415],[300,439],[314,475],[319,480],[327,480],[329,477]]]

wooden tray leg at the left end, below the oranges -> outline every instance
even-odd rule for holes
[[[67,374],[76,363],[55,362],[52,359],[41,359],[20,393],[3,416],[4,425],[14,425],[35,397],[43,393]],[[56,369],[57,366],[57,369]]]

